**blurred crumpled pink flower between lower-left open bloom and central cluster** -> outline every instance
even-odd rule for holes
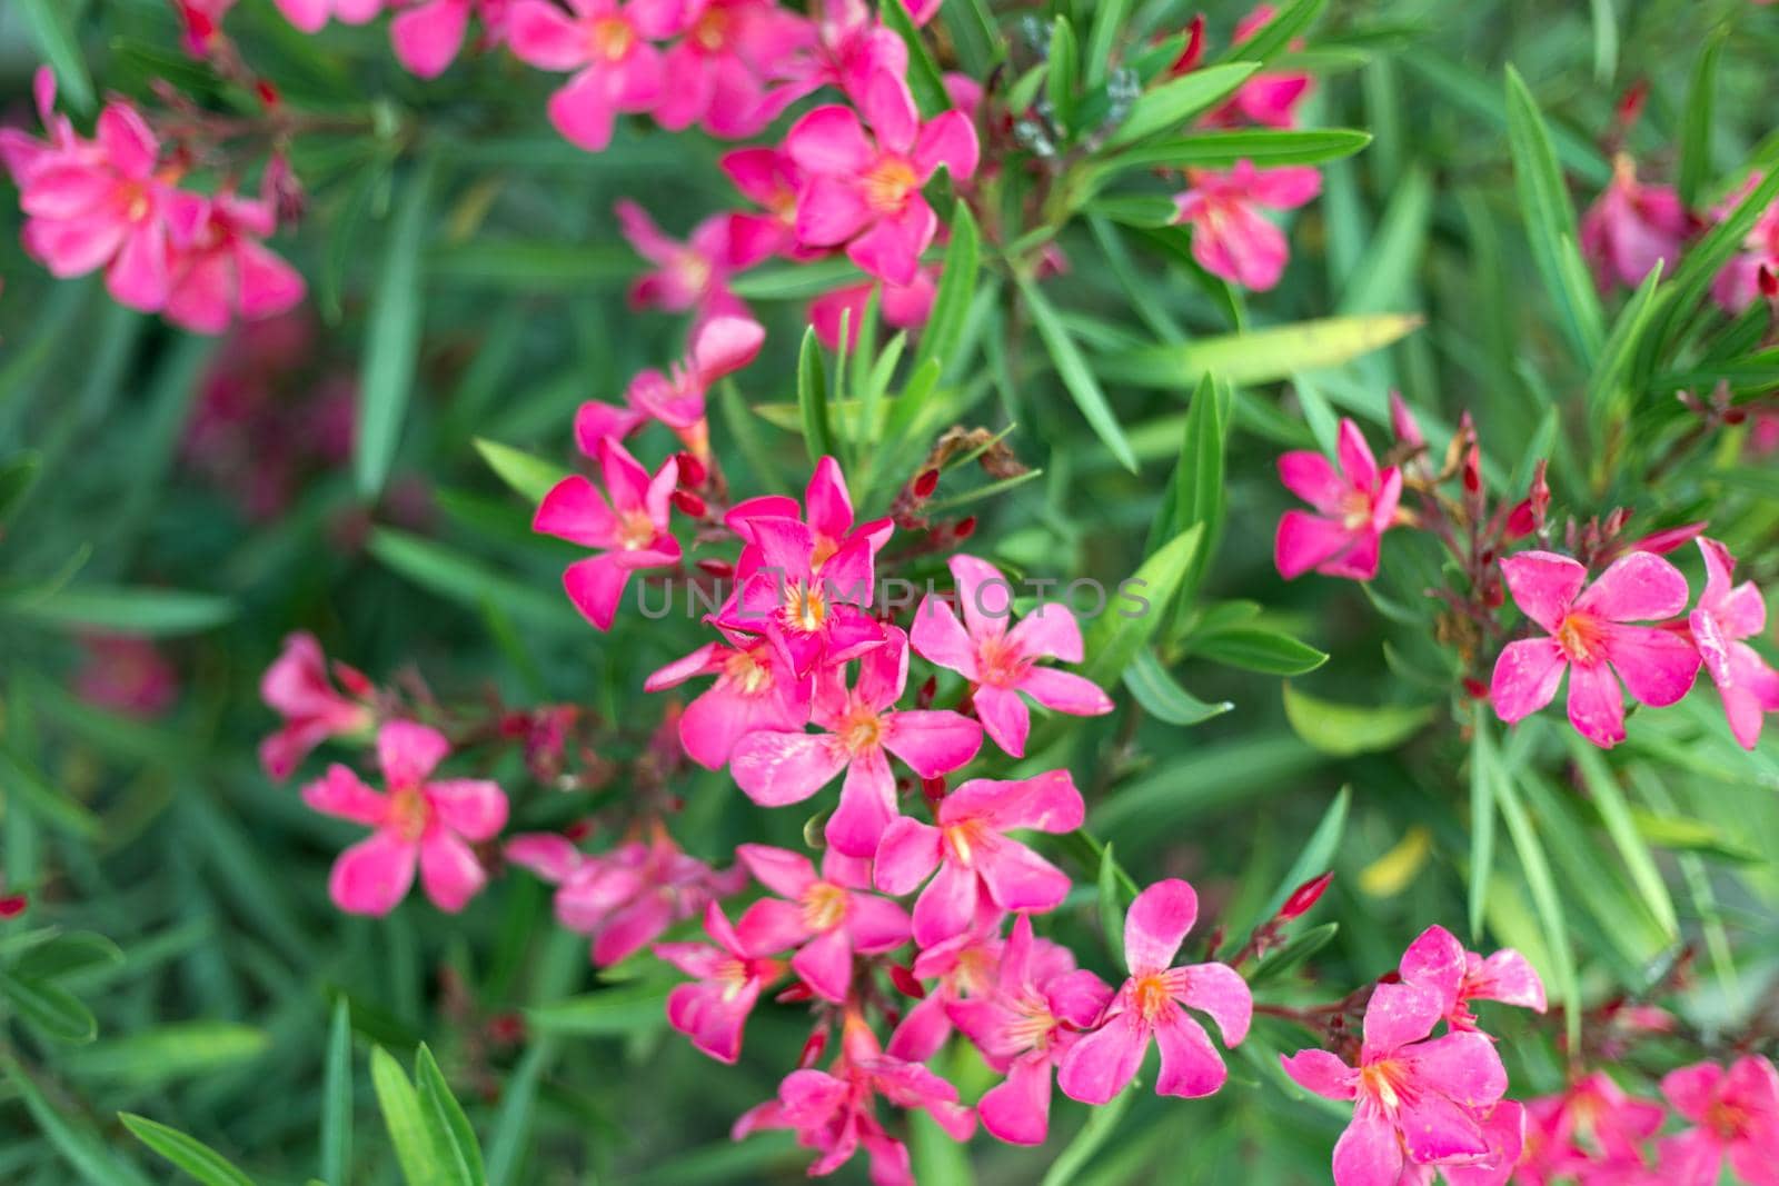
[[[738,893],[747,869],[713,871],[653,827],[603,853],[584,853],[566,836],[530,832],[505,846],[507,861],[557,885],[555,916],[592,939],[592,964],[610,967],[655,942],[664,930],[697,918]]]

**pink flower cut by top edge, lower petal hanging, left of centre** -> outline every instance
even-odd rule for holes
[[[662,53],[649,39],[680,32],[678,0],[568,0],[573,14],[546,0],[518,0],[507,43],[539,69],[571,69],[550,96],[550,123],[589,153],[612,142],[619,112],[648,112],[660,103]]]

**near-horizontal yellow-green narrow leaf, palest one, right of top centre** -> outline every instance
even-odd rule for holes
[[[1247,334],[1105,354],[1096,359],[1096,366],[1114,382],[1169,391],[1185,391],[1204,375],[1217,375],[1236,386],[1274,382],[1297,372],[1350,363],[1402,340],[1420,324],[1416,313],[1329,317]]]

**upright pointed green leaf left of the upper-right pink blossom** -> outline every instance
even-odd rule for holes
[[[1557,304],[1576,357],[1587,366],[1605,338],[1605,315],[1587,268],[1578,270],[1580,231],[1550,128],[1544,126],[1537,100],[1512,66],[1507,68],[1507,139],[1514,153],[1519,210],[1532,240],[1532,261]]]

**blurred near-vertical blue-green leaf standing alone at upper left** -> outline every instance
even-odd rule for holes
[[[427,240],[427,208],[436,171],[436,156],[429,155],[407,178],[370,295],[352,464],[358,493],[366,501],[377,498],[390,478],[420,363],[425,308],[420,252]]]

